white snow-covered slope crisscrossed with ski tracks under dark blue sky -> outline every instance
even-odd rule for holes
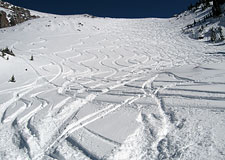
[[[193,16],[0,29],[0,159],[224,160],[225,45],[182,33]]]

